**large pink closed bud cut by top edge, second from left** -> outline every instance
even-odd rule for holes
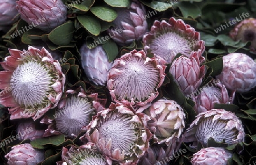
[[[51,31],[67,19],[67,7],[61,0],[19,0],[16,3],[20,17],[43,31]]]

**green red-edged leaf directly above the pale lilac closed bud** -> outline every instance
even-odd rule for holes
[[[101,32],[101,24],[98,19],[88,16],[88,15],[79,15],[77,19],[82,24],[82,26],[92,35],[98,36]]]

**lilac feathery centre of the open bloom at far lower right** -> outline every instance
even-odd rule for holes
[[[203,146],[207,146],[209,138],[213,138],[216,142],[222,142],[224,139],[225,143],[233,144],[233,139],[238,136],[238,130],[235,128],[225,129],[227,122],[228,120],[213,120],[213,117],[207,117],[200,122],[196,138]]]

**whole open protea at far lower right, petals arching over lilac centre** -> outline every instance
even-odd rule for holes
[[[211,109],[196,116],[185,133],[185,142],[200,142],[207,146],[209,138],[233,145],[243,141],[245,132],[240,119],[224,109]]]

